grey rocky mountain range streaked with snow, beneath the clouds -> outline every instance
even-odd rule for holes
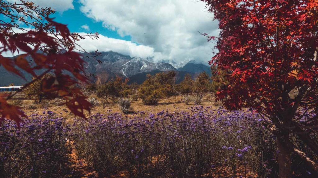
[[[138,79],[138,82],[142,82],[146,78],[147,73],[154,74],[163,71],[177,71],[177,73],[180,73],[180,76],[178,76],[180,80],[183,79],[185,73],[194,75],[205,71],[211,74],[210,67],[190,60],[182,62],[177,62],[176,60],[160,60],[155,62],[152,57],[130,57],[113,51],[101,52],[98,56],[94,54],[83,54],[83,59],[86,61],[85,69],[88,75],[103,73],[106,74],[103,76],[106,76],[107,80],[119,75],[121,77],[131,78],[132,82],[136,81],[136,79]],[[40,73],[41,71],[38,72]],[[31,80],[32,76],[30,74],[24,71],[22,71],[22,73],[25,75],[27,81]],[[23,85],[27,82],[9,73],[2,66],[0,66],[0,74],[2,76],[0,86],[6,86],[10,83]],[[92,77],[92,79],[94,78]]]

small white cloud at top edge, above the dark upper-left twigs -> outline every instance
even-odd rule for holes
[[[20,2],[19,0],[7,0],[11,3]],[[68,9],[74,9],[73,0],[31,0],[40,7],[50,7],[59,12],[66,11]]]

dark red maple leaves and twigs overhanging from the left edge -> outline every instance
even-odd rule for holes
[[[85,61],[76,52],[84,49],[76,41],[87,36],[98,38],[98,34],[70,33],[66,25],[49,17],[53,13],[55,10],[39,8],[32,2],[20,0],[9,3],[0,0],[0,65],[22,78],[22,70],[34,77],[23,89],[51,73],[49,78],[41,81],[42,92],[48,97],[65,99],[66,106],[74,115],[85,118],[84,111],[90,112],[90,104],[80,89],[71,87],[88,81],[83,66]],[[4,57],[5,52],[18,52],[20,55],[16,58]],[[29,56],[32,61],[28,60]],[[21,118],[26,117],[18,106],[7,102],[16,94],[0,95],[0,121],[8,118],[19,124]]]

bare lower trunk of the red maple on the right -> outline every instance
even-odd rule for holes
[[[288,134],[281,134],[277,137],[278,165],[280,178],[292,177],[291,152],[285,143],[285,140],[287,139],[289,139]]]

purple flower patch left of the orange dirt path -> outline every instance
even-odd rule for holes
[[[20,129],[6,120],[0,129],[0,177],[50,177],[71,174],[66,166],[70,128],[52,113],[32,114]]]

